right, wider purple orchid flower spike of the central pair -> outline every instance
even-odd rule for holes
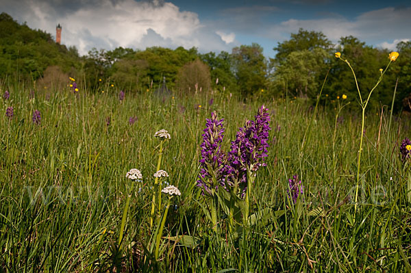
[[[247,185],[247,170],[256,172],[260,166],[266,166],[264,158],[269,147],[270,115],[262,105],[258,109],[255,120],[247,120],[245,127],[240,128],[236,140],[231,144],[228,153],[227,182],[230,185],[245,183]]]

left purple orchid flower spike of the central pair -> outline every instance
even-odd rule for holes
[[[216,112],[212,112],[211,118],[206,119],[201,143],[201,170],[197,181],[197,186],[203,188],[203,193],[211,194],[211,189],[218,187],[225,176],[225,154],[221,151],[225,131],[223,121],[217,118]]]

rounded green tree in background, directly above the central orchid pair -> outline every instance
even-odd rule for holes
[[[251,95],[266,86],[266,59],[260,44],[234,47],[232,60],[241,94]]]

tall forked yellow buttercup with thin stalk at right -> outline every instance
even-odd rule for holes
[[[357,161],[357,185],[356,185],[356,199],[355,199],[355,205],[354,205],[354,212],[357,211],[357,200],[358,200],[358,186],[360,184],[360,164],[361,164],[361,153],[362,153],[362,141],[364,139],[364,123],[365,123],[365,109],[366,109],[366,105],[368,105],[370,98],[371,98],[371,94],[373,94],[373,91],[375,90],[375,88],[377,88],[377,86],[379,85],[379,83],[382,81],[382,77],[384,76],[384,74],[386,73],[386,70],[388,69],[388,67],[390,66],[391,62],[395,62],[395,60],[397,60],[397,57],[399,56],[398,52],[391,52],[390,55],[388,55],[388,59],[390,60],[390,62],[388,62],[386,68],[383,70],[382,68],[379,69],[379,72],[381,73],[381,75],[379,76],[379,79],[377,81],[377,83],[375,83],[375,86],[371,89],[371,91],[369,92],[368,97],[366,98],[366,101],[362,101],[362,96],[361,96],[361,92],[360,92],[360,88],[358,87],[358,81],[357,81],[357,77],[356,77],[356,73],[354,72],[351,64],[347,61],[347,60],[343,60],[341,58],[341,53],[340,52],[336,52],[335,57],[342,60],[343,62],[345,62],[349,68],[351,69],[351,72],[353,73],[354,76],[354,80],[356,81],[356,87],[357,87],[357,91],[358,91],[358,96],[360,97],[360,106],[362,108],[362,115],[361,115],[361,138],[360,138],[360,148],[358,149],[358,161]]]

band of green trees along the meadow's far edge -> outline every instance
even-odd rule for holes
[[[387,49],[369,46],[353,36],[341,37],[333,44],[323,33],[305,29],[278,42],[273,50],[276,55],[269,59],[256,43],[234,47],[231,53],[200,53],[195,47],[119,47],[110,51],[92,49],[80,56],[75,47],[55,43],[51,34],[30,29],[10,15],[0,14],[3,82],[29,79],[46,85],[51,78],[60,75],[65,79],[61,75],[71,75],[82,79],[88,90],[97,90],[101,82],[110,81],[117,88],[142,92],[160,86],[165,79],[170,89],[188,94],[214,88],[242,97],[264,92],[264,96],[288,94],[314,101],[327,75],[324,103],[342,94],[347,95],[348,101],[356,101],[358,91],[351,70],[338,62],[334,53],[340,51],[356,70],[364,96],[377,81],[379,68],[388,64],[389,54]],[[399,42],[397,51],[399,58],[373,94],[371,107],[390,105],[397,83],[396,109],[410,110],[406,98],[411,94],[411,42]]]

